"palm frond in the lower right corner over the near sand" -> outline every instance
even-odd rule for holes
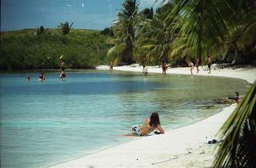
[[[223,139],[214,167],[255,167],[256,165],[256,82],[250,87],[219,132]]]

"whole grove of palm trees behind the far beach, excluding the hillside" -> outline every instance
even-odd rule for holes
[[[207,54],[214,62],[256,63],[254,0],[162,2],[156,12],[138,12],[136,0],[123,2],[112,26],[114,38],[108,40],[114,45],[108,54],[116,63],[156,64],[195,58],[204,63]]]

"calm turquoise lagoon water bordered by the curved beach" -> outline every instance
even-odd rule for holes
[[[154,111],[168,130],[216,114],[214,99],[248,84],[234,78],[100,70],[0,74],[1,167],[47,167],[128,142],[130,127]],[[32,81],[27,82],[26,77]]]

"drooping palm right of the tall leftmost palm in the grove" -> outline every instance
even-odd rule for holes
[[[167,62],[171,43],[174,40],[174,33],[169,26],[166,26],[165,11],[171,6],[167,4],[158,9],[152,18],[147,18],[138,33],[136,42],[136,59],[142,64],[148,62]],[[142,10],[142,14],[148,16],[153,10]]]

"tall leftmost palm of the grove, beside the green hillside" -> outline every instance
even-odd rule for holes
[[[136,39],[135,27],[138,23],[138,2],[126,0],[122,3],[123,9],[118,12],[118,19],[114,23],[114,39],[109,43],[114,46],[108,51],[108,55],[120,58],[122,63],[134,62],[134,41]]]

